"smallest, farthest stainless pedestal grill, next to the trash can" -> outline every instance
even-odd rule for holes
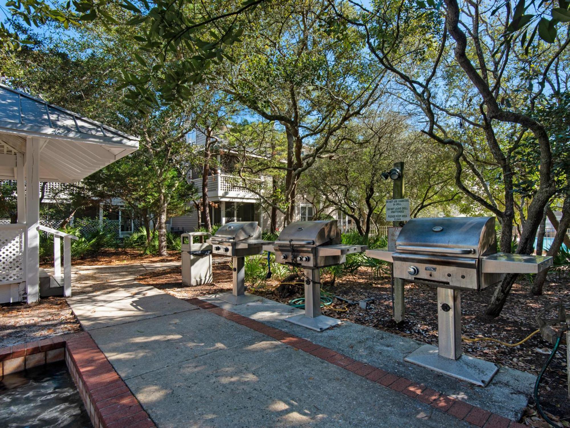
[[[257,221],[226,223],[206,242],[211,244],[213,254],[231,257],[232,292],[217,294],[216,297],[234,305],[257,300],[258,297],[245,293],[245,257],[262,254],[263,245],[272,244],[261,239]]]

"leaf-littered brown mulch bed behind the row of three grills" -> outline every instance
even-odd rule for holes
[[[227,263],[214,264],[214,284],[186,287],[181,282],[180,268],[155,270],[137,278],[143,284],[156,286],[179,298],[200,297],[206,294],[231,290],[231,269]],[[405,288],[406,321],[397,325],[392,320],[392,293],[389,278],[373,277],[370,270],[361,268],[356,275],[346,276],[336,280],[331,286],[332,277],[323,275],[323,289],[335,296],[348,300],[359,301],[374,298],[368,309],[360,309],[358,304],[346,305],[335,299],[334,307],[348,308],[348,312],[337,312],[328,308],[323,313],[368,325],[386,332],[411,337],[418,341],[437,346],[437,295],[434,289],[424,285],[408,284]],[[566,310],[570,313],[569,278],[549,276],[549,284],[545,286],[543,296],[530,296],[530,285],[524,277],[516,283],[507,303],[499,317],[487,320],[482,316],[491,298],[492,287],[482,292],[463,292],[462,300],[462,333],[466,337],[493,337],[503,342],[518,342],[538,328],[535,316],[545,306],[564,301]],[[287,303],[292,298],[302,297],[304,290],[298,286],[286,298],[275,294],[279,285],[276,278],[266,281],[255,288],[249,287],[250,293]],[[524,344],[516,348],[494,344],[493,342],[463,343],[463,352],[474,357],[495,362],[518,370],[537,375],[546,361],[552,345],[536,334]],[[554,415],[555,421],[564,426],[570,426],[570,400],[567,395],[567,362],[566,347],[560,346],[560,352],[552,361],[541,382],[541,405],[545,411]],[[530,426],[548,427],[548,424],[536,415],[532,404],[528,406],[523,422]]]

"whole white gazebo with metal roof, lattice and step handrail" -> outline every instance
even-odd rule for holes
[[[40,226],[40,182],[75,183],[139,148],[139,139],[0,84],[0,179],[17,180],[18,223],[0,224],[0,303],[38,301],[39,231],[54,234],[55,276],[71,295],[71,239]]]

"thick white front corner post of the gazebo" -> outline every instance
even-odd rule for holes
[[[26,296],[27,303],[39,300],[39,145],[26,138]]]

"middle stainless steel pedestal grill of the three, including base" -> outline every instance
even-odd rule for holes
[[[341,244],[336,220],[296,221],[279,234],[274,245],[265,245],[275,252],[277,263],[303,269],[305,282],[305,313],[286,318],[294,324],[322,332],[339,324],[336,318],[320,314],[319,268],[342,264],[347,254],[362,252],[365,245]]]

